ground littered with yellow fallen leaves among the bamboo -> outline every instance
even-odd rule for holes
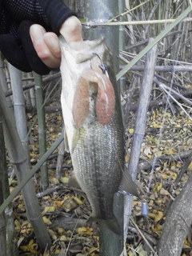
[[[29,123],[34,119],[31,114],[28,114],[28,118]],[[130,115],[129,127],[126,130],[126,162],[129,161],[134,120],[134,114]],[[46,126],[47,148],[50,148],[62,132],[62,113],[46,114]],[[170,110],[165,114],[164,107],[150,110],[147,114],[146,134],[142,142],[137,178],[141,199],[134,198],[126,239],[126,252],[129,256],[154,255],[153,250],[156,250],[158,237],[166,220],[166,212],[169,210],[170,203],[182,190],[188,178],[188,172],[192,169],[191,163],[182,177],[178,178],[183,163],[192,152],[191,129],[190,118],[178,107],[175,115]],[[34,125],[29,142],[30,160],[34,165],[39,158],[38,125]],[[53,245],[46,252],[39,250],[30,222],[27,221],[20,194],[14,199],[14,225],[18,237],[19,255],[96,256],[99,254],[98,227],[97,224],[86,225],[86,219],[90,216],[90,205],[86,194],[82,190],[65,186],[73,170],[70,154],[64,155],[61,180],[58,182],[55,178],[57,153],[56,150],[48,160],[50,181],[48,187],[42,189],[40,172],[34,175],[34,185],[42,208],[42,216]],[[154,156],[157,157],[157,162],[154,172],[151,172]],[[10,190],[14,186],[17,186],[16,178],[11,179]],[[148,189],[149,193],[147,193]],[[144,199],[149,209],[146,217],[142,216]],[[183,245],[182,256],[184,255],[192,255],[190,237]]]

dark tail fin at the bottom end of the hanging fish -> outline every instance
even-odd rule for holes
[[[118,220],[117,218],[109,218],[109,219],[101,219],[101,218],[94,218],[90,216],[90,218],[87,220],[87,223],[92,223],[92,222],[104,222],[107,226],[108,229],[113,231],[115,234],[120,235],[120,226],[118,225]]]

